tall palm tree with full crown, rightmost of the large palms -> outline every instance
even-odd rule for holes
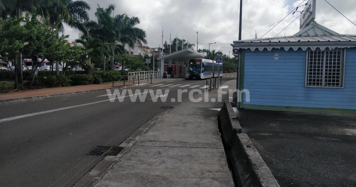
[[[95,12],[97,21],[89,21],[86,26],[90,35],[100,38],[104,43],[110,44],[111,69],[114,68],[114,51],[117,45],[134,48],[137,41],[146,41],[146,32],[135,27],[140,24],[138,17],[129,17],[126,14],[114,16],[115,5],[110,4],[107,8],[98,5]],[[105,61],[105,59],[104,59]]]

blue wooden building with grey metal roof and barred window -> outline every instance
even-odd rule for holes
[[[356,35],[315,21],[293,36],[234,41],[245,109],[356,114]]]

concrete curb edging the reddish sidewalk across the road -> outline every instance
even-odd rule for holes
[[[13,104],[13,103],[22,103],[22,102],[30,102],[30,101],[37,101],[37,100],[57,98],[57,97],[66,97],[66,96],[69,96],[69,95],[79,95],[79,94],[83,94],[83,93],[95,93],[95,92],[105,91],[106,89],[110,89],[111,90],[111,89],[116,89],[116,88],[130,88],[130,87],[136,87],[136,86],[137,85],[127,85],[127,86],[111,87],[111,88],[97,89],[97,90],[84,90],[84,91],[78,91],[78,92],[67,92],[67,93],[48,94],[48,95],[36,95],[36,96],[33,96],[33,97],[25,97],[25,98],[4,99],[4,100],[0,100],[0,105]]]

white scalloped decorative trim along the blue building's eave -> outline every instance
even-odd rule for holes
[[[252,47],[252,46],[244,46],[244,47],[234,47],[234,49],[240,50],[240,49],[250,49],[251,51],[255,51],[258,49],[259,51],[263,51],[264,49],[267,49],[268,51],[271,51],[273,48],[275,49],[281,49],[284,48],[284,50],[288,51],[290,48],[292,48],[294,51],[297,51],[299,48],[302,49],[303,51],[307,50],[310,48],[312,51],[315,51],[316,48],[319,48],[321,51],[324,51],[326,48],[329,48],[329,50],[333,50],[335,48],[350,48],[350,47],[355,47],[354,45],[335,45],[335,46],[258,46],[258,47]]]

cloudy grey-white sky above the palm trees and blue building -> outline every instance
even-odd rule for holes
[[[178,34],[190,43],[197,44],[199,32],[200,49],[221,50],[225,54],[231,51],[230,44],[239,37],[239,0],[86,0],[91,10],[90,19],[96,20],[94,13],[99,4],[107,7],[115,4],[114,14],[138,16],[141,24],[138,27],[146,31],[148,46],[158,47],[161,43],[162,27],[164,40],[169,41]],[[303,0],[243,0],[242,5],[242,39],[261,37],[277,22],[283,19],[294,7]],[[339,12],[333,9],[325,0],[316,0],[316,21],[340,34],[356,34],[356,26],[349,22]],[[351,21],[356,23],[356,0],[328,0]],[[307,2],[307,0],[305,0]],[[305,4],[305,2],[303,4]],[[301,9],[303,9],[302,7]],[[299,9],[298,9],[299,10]],[[298,12],[290,14],[264,37],[274,37],[290,22],[298,17]],[[299,18],[295,20],[279,36],[293,35],[299,31]],[[66,27],[65,34],[69,40],[78,38],[78,31]],[[167,39],[168,38],[168,39]],[[195,47],[196,49],[196,47]]]

